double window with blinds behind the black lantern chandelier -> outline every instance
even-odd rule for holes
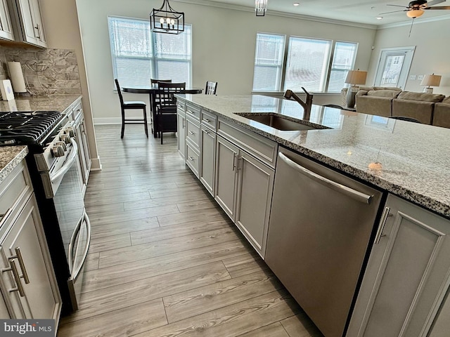
[[[149,86],[150,79],[192,84],[192,27],[181,34],[150,32],[148,20],[108,16],[113,74],[121,86]]]

